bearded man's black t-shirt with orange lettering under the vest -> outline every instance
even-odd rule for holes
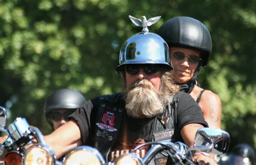
[[[74,119],[79,125],[81,132],[81,142],[83,145],[90,145],[90,138],[94,129],[96,129],[96,114],[99,110],[99,98],[94,98],[83,104],[76,110],[69,119]],[[108,155],[109,160],[113,160],[123,153],[130,152],[136,146],[152,141],[152,119],[134,119],[124,112],[122,124],[119,129],[117,139]],[[187,124],[198,123],[207,127],[207,122],[204,121],[201,108],[195,100],[186,93],[183,93],[177,102],[177,129],[178,135],[176,140],[183,142],[180,130]],[[92,146],[94,147],[94,146]],[[140,148],[140,156],[144,156],[147,147]]]

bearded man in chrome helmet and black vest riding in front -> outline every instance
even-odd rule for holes
[[[79,145],[96,148],[107,161],[145,142],[180,141],[193,147],[196,131],[207,123],[193,98],[173,83],[169,48],[160,36],[141,32],[128,38],[116,72],[124,82],[121,93],[87,101],[69,122],[45,136],[57,157]],[[136,153],[143,157],[147,151],[142,147]],[[152,162],[163,159],[160,155]]]

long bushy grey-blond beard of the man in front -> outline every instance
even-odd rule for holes
[[[163,113],[166,105],[172,101],[172,95],[157,92],[147,79],[138,80],[125,90],[125,109],[128,116],[134,118],[152,118]]]

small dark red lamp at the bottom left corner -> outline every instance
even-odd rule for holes
[[[21,165],[22,154],[18,151],[11,151],[5,154],[4,164],[5,165]]]

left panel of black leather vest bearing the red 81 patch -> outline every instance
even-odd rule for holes
[[[91,145],[102,153],[106,161],[118,135],[123,110],[124,101],[121,98],[121,93],[99,96],[96,129]]]

